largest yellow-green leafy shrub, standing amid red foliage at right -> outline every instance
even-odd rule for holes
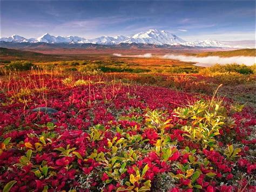
[[[177,108],[174,110],[177,116],[188,119],[189,123],[182,127],[186,133],[184,136],[193,141],[203,141],[205,147],[214,146],[219,130],[225,124],[226,109],[221,99],[211,99],[195,102],[187,108]]]

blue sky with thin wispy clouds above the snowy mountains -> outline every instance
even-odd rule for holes
[[[1,1],[1,37],[95,38],[170,31],[184,40],[255,40],[254,1]]]

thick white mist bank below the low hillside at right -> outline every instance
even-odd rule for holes
[[[232,56],[229,58],[221,58],[219,56],[206,56],[201,58],[197,56],[167,54],[167,55],[161,56],[160,58],[174,59],[174,60],[180,60],[180,61],[186,61],[186,62],[197,62],[195,65],[201,66],[201,67],[210,67],[216,63],[220,65],[237,63],[240,65],[244,64],[247,66],[252,66],[254,63],[256,63],[254,56]]]

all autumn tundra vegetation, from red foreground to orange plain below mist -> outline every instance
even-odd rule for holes
[[[256,190],[255,65],[1,63],[3,191]]]

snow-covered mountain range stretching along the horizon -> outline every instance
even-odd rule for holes
[[[188,42],[175,34],[163,30],[148,30],[140,32],[133,36],[118,35],[116,37],[102,36],[94,39],[86,39],[77,36],[53,36],[49,33],[41,37],[26,39],[19,35],[12,35],[7,38],[0,38],[2,42],[45,42],[48,44],[98,44],[98,45],[118,45],[118,44],[153,44],[153,45],[171,45],[171,46],[186,46],[186,47],[231,47],[217,40],[204,40]]]

